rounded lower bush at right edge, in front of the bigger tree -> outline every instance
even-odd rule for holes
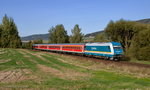
[[[139,60],[150,58],[150,27],[141,30],[132,40],[130,54]]]

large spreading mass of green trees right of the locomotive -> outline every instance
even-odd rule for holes
[[[150,58],[150,25],[119,20],[111,21],[106,29],[107,36],[112,41],[120,42],[125,54],[138,60]]]

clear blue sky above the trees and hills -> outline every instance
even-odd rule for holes
[[[5,14],[20,36],[45,34],[58,24],[69,35],[75,24],[87,34],[104,30],[110,20],[150,18],[150,0],[0,0],[0,23]]]

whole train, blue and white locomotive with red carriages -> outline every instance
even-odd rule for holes
[[[65,43],[65,44],[33,44],[35,50],[56,51],[102,57],[108,60],[120,60],[123,49],[118,42]]]

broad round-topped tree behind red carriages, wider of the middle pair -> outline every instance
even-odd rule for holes
[[[68,43],[69,37],[62,24],[56,25],[49,30],[49,43]]]

